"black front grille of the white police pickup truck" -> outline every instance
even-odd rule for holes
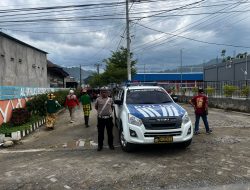
[[[142,122],[147,130],[167,130],[181,128],[182,119],[180,117],[144,118]]]

